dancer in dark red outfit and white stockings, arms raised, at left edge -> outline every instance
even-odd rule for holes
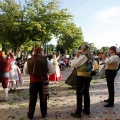
[[[0,82],[5,92],[5,97],[0,99],[1,102],[8,101],[8,80],[9,80],[9,71],[11,69],[11,62],[14,61],[14,55],[12,52],[9,52],[10,58],[5,57],[4,51],[0,51]]]

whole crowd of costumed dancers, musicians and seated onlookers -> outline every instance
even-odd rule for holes
[[[107,104],[104,107],[114,106],[114,81],[120,65],[120,53],[115,46],[111,46],[108,52],[91,53],[87,44],[83,44],[76,52],[75,57],[66,58],[53,54],[46,56],[41,47],[34,48],[33,55],[16,58],[12,52],[6,57],[4,51],[0,51],[0,82],[5,92],[1,102],[8,101],[8,92],[15,92],[16,88],[24,84],[22,74],[30,75],[29,109],[28,118],[32,119],[37,102],[37,94],[40,96],[40,109],[42,118],[47,115],[47,99],[49,99],[49,81],[53,83],[62,80],[61,70],[72,68],[73,71],[66,84],[76,88],[77,109],[71,116],[81,118],[82,112],[90,115],[89,88],[92,80],[92,71],[99,71],[99,66],[104,65],[105,77],[108,87]],[[84,96],[84,108],[82,108]]]

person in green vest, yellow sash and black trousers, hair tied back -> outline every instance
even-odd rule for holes
[[[92,62],[93,58],[90,48],[87,44],[81,46],[81,55],[71,63],[71,67],[76,69],[76,101],[77,109],[71,116],[81,118],[81,112],[90,115],[90,82],[92,79]],[[82,100],[84,97],[84,102]],[[84,103],[84,105],[82,105]],[[84,109],[82,109],[82,107]]]

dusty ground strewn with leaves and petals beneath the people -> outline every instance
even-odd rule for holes
[[[75,90],[64,84],[72,70],[62,71],[63,80],[50,84],[50,100],[48,101],[48,115],[45,120],[77,120],[70,116],[76,108]],[[82,120],[120,120],[120,71],[115,82],[115,106],[104,108],[103,100],[107,98],[105,79],[93,80],[90,87],[91,115],[84,116]],[[0,120],[27,120],[29,77],[24,76],[24,86],[18,88],[16,93],[10,93],[7,103],[0,103]],[[0,96],[3,90],[0,87]],[[41,120],[39,100],[37,102],[34,120]]]

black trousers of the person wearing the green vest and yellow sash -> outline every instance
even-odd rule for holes
[[[89,87],[91,77],[81,77],[77,76],[76,81],[76,94],[77,94],[77,113],[81,114],[82,111],[82,96],[84,95],[84,110],[86,112],[90,111],[90,94]]]

